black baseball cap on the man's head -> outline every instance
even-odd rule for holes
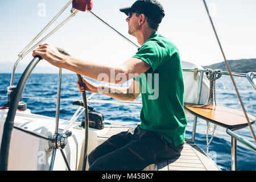
[[[131,7],[121,8],[120,11],[127,16],[129,12],[137,11],[147,16],[147,18],[155,20],[156,23],[161,23],[164,17],[163,6],[155,0],[137,0]]]

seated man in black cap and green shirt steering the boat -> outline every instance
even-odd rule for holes
[[[56,67],[90,78],[99,79],[104,73],[108,78],[104,81],[118,84],[133,78],[129,88],[98,85],[82,78],[85,86],[77,84],[80,92],[100,92],[127,101],[134,101],[142,94],[141,125],[114,135],[95,148],[88,156],[90,170],[142,170],[180,155],[185,139],[187,119],[183,110],[184,85],[179,51],[157,31],[164,17],[163,6],[158,1],[139,0],[120,11],[128,16],[129,34],[135,36],[142,47],[118,67],[64,56],[48,44],[40,45],[33,53]],[[110,78],[113,70],[114,76],[123,78],[122,81]],[[156,96],[152,94],[152,86],[158,92],[154,93]]]

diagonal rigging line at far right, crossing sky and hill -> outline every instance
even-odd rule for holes
[[[231,70],[230,70],[230,68],[229,68],[229,64],[228,64],[228,61],[226,60],[225,53],[224,53],[224,51],[223,51],[223,49],[222,49],[222,46],[221,46],[221,43],[220,43],[220,39],[218,38],[218,34],[217,34],[216,29],[215,29],[214,24],[213,24],[213,20],[212,20],[212,18],[211,18],[211,16],[210,16],[207,3],[205,2],[205,0],[203,0],[203,2],[204,2],[205,9],[207,10],[207,14],[208,14],[208,16],[209,16],[209,19],[210,19],[210,23],[212,24],[214,34],[215,34],[215,36],[216,36],[216,38],[217,38],[218,45],[220,46],[222,56],[224,57],[226,68],[228,69],[229,75],[230,75],[230,77],[231,77],[231,80],[232,80],[232,82],[233,82],[234,88],[235,88],[236,93],[237,93],[237,97],[238,97],[238,99],[239,99],[239,101],[240,101],[240,104],[241,104],[241,106],[242,106],[243,113],[245,114],[245,118],[246,118],[246,120],[247,120],[247,122],[248,122],[248,125],[249,125],[249,127],[250,127],[251,134],[253,135],[254,141],[255,141],[255,143],[256,143],[256,138],[255,138],[255,134],[254,134],[254,131],[253,131],[253,127],[251,127],[251,123],[250,123],[249,117],[248,117],[248,115],[247,115],[247,113],[246,113],[245,106],[243,105],[242,99],[241,99],[241,97],[240,97],[240,93],[238,92],[237,85],[236,85],[236,83],[234,82],[234,78],[233,78],[233,76],[232,76],[232,72],[231,72]]]

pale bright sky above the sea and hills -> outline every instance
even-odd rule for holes
[[[159,32],[174,41],[180,50],[181,60],[200,65],[224,61],[202,0],[159,1],[166,11]],[[1,0],[0,64],[3,61],[14,64],[18,53],[67,2]],[[130,6],[134,2],[94,0],[92,11],[137,43],[137,39],[127,33],[126,15],[119,11],[120,7]],[[45,14],[42,14],[42,3],[46,7]],[[207,3],[227,59],[256,58],[256,1],[208,0]],[[71,6],[47,32],[62,22],[70,14],[70,9]],[[137,51],[94,16],[84,12],[79,12],[46,43],[62,47],[80,59],[115,65],[123,63]],[[30,53],[21,63],[27,64],[31,59]],[[51,67],[46,61],[40,64]]]

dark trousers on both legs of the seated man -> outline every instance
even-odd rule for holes
[[[89,155],[89,170],[141,171],[150,164],[179,156],[183,144],[174,146],[152,131],[135,129],[113,135]]]

